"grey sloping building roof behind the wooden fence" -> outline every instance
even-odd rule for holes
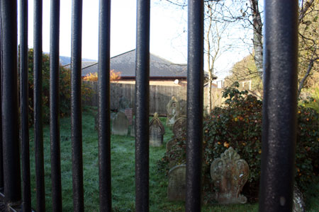
[[[82,76],[96,73],[99,64],[82,68]],[[110,59],[110,69],[121,71],[121,78],[135,78],[135,49]],[[150,54],[150,78],[186,78],[187,65],[174,64],[171,61]]]

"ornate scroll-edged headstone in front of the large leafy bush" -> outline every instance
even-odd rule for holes
[[[240,194],[249,177],[250,168],[232,148],[228,148],[211,164],[211,178],[216,187],[215,199],[219,204],[245,204]]]

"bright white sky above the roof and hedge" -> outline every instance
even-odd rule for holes
[[[151,1],[150,52],[176,64],[187,63],[187,11],[164,0]],[[71,54],[72,0],[60,1],[60,55]],[[33,0],[28,4],[28,46],[33,47]],[[136,1],[111,1],[111,57],[135,49]],[[99,1],[83,0],[82,58],[98,59]],[[237,50],[236,50],[237,51]],[[242,51],[218,59],[223,78]],[[43,0],[43,52],[50,52],[50,0]],[[248,54],[245,53],[245,54]]]

